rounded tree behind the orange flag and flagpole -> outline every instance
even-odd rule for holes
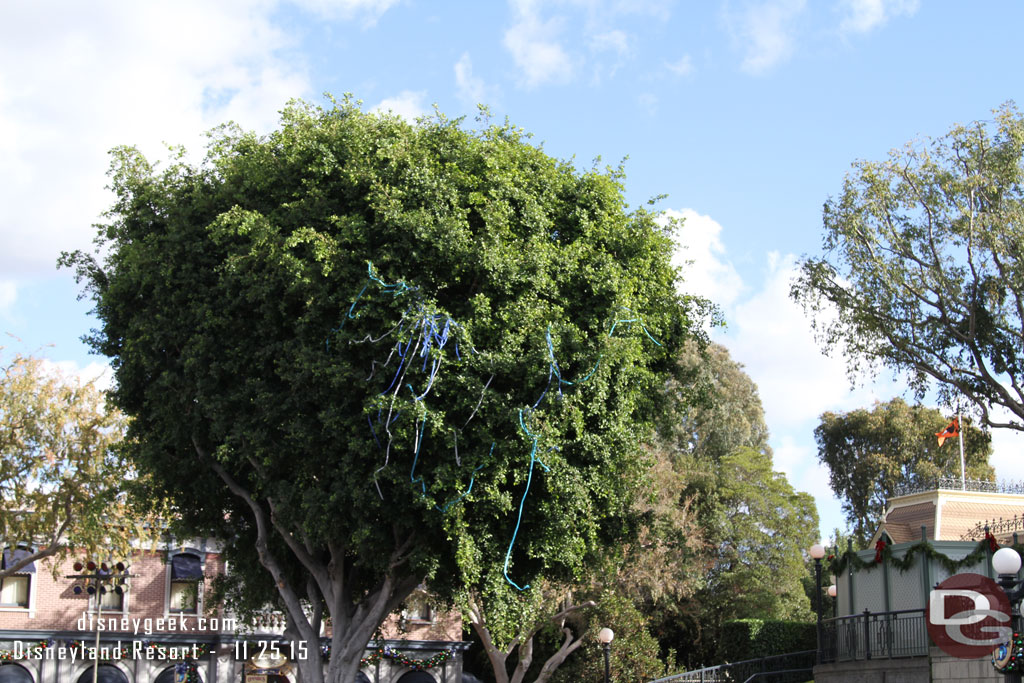
[[[859,545],[865,546],[874,533],[897,486],[959,477],[957,439],[940,446],[935,437],[948,423],[939,410],[907,405],[902,398],[876,403],[870,411],[821,416],[814,430],[818,460],[828,467],[831,488],[843,501]],[[991,436],[968,420],[963,432],[967,477],[992,481]]]

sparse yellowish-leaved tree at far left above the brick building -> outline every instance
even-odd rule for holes
[[[29,551],[0,577],[73,551],[128,557],[144,533],[121,496],[124,416],[40,358],[14,355],[0,373],[0,546]]]

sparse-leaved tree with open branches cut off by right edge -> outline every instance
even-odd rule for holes
[[[851,373],[905,372],[989,427],[1024,430],[1024,118],[955,126],[859,161],[824,205],[824,256],[792,296]],[[992,408],[1005,410],[993,413]]]

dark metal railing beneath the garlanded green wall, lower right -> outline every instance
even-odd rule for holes
[[[894,659],[928,654],[924,609],[870,612],[824,620],[821,663]]]

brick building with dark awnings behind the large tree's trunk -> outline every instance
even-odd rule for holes
[[[14,560],[15,552],[4,551],[4,562]],[[105,567],[111,578],[102,593],[89,593],[96,580],[69,578],[89,573],[74,562],[63,561],[55,571],[48,564],[29,565],[0,580],[0,683],[91,683],[97,631],[101,683],[297,680],[295,661],[303,652],[281,642],[282,614],[266,612],[254,624],[240,624],[208,604],[210,581],[225,569],[214,544],[136,553],[125,572]],[[371,643],[358,680],[461,683],[468,643],[462,642],[458,613],[435,611],[423,592],[407,604],[388,617],[387,639]]]

